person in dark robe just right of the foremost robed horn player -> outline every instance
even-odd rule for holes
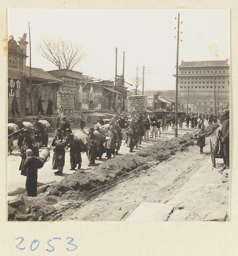
[[[81,168],[82,157],[80,151],[80,143],[77,137],[72,133],[70,128],[66,129],[66,142],[68,147],[70,148],[69,151],[69,158],[70,158],[70,170],[75,170],[78,164],[78,170]]]

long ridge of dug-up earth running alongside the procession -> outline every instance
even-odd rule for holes
[[[206,127],[207,136],[217,127],[217,124]],[[193,133],[186,133],[181,138],[159,141],[135,154],[125,154],[108,160],[88,172],[74,172],[59,182],[42,188],[40,195],[35,198],[19,196],[8,202],[8,221],[58,220],[65,209],[80,207],[83,202],[110,189],[123,179],[139,175],[176,152],[194,145]]]

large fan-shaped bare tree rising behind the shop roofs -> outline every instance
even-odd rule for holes
[[[72,70],[75,65],[81,62],[88,54],[72,41],[62,39],[42,38],[37,47],[37,52],[51,63],[56,65],[58,69]]]

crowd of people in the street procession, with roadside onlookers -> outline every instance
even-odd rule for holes
[[[228,117],[227,117],[228,116]],[[229,166],[229,111],[225,111],[214,117],[214,114],[206,113],[190,113],[186,116],[178,118],[179,128],[182,128],[183,122],[186,122],[187,128],[199,128],[197,136],[199,140],[197,145],[200,147],[200,153],[203,153],[205,146],[206,131],[204,130],[204,120],[209,123],[221,120],[221,143],[224,155],[224,168]],[[228,119],[228,121],[227,121]],[[19,170],[21,175],[27,176],[26,189],[29,196],[36,196],[37,169],[42,168],[42,164],[36,160],[39,158],[39,148],[45,148],[50,151],[54,147],[52,158],[52,169],[55,170],[54,175],[62,176],[65,166],[65,150],[70,149],[70,170],[80,169],[82,166],[81,154],[86,152],[88,158],[88,166],[93,166],[95,160],[102,160],[103,154],[107,159],[111,159],[119,153],[119,149],[124,143],[129,148],[129,152],[140,147],[142,142],[148,143],[150,139],[161,137],[161,133],[175,130],[175,115],[162,115],[162,119],[158,119],[156,115],[142,118],[140,116],[134,122],[128,120],[126,115],[113,116],[111,121],[105,124],[104,120],[99,116],[94,127],[84,131],[85,118],[81,116],[80,131],[74,134],[71,130],[71,123],[68,116],[62,116],[62,119],[56,119],[55,135],[48,146],[48,133],[51,131],[50,124],[45,120],[41,111],[38,116],[33,118],[33,122],[22,122],[17,119],[17,124],[8,124],[8,134],[14,132],[14,125],[18,130],[22,129],[22,133],[17,135],[17,145],[20,148],[21,163]],[[11,141],[12,145],[12,141]],[[11,153],[11,145],[8,150]],[[33,167],[34,166],[34,167]],[[38,166],[38,167],[37,167]],[[224,170],[223,168],[223,170]]]

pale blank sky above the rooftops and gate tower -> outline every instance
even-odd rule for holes
[[[74,68],[86,76],[114,81],[117,47],[118,75],[125,51],[125,81],[132,83],[144,65],[153,70],[145,74],[144,90],[175,90],[178,12],[179,65],[229,58],[229,9],[8,9],[8,35],[18,41],[27,33],[29,42],[30,21],[32,67],[57,69],[36,52],[40,38],[70,39],[88,52]]]

